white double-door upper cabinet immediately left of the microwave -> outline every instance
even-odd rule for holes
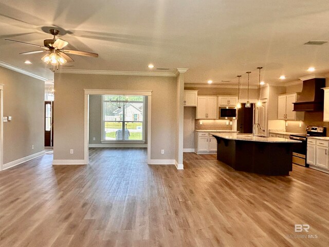
[[[196,118],[216,119],[217,118],[217,97],[198,96],[196,107]]]

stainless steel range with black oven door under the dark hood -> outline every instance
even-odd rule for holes
[[[295,144],[293,147],[293,164],[306,166],[307,153],[307,136],[325,136],[326,128],[322,126],[307,126],[305,134],[290,135],[293,140],[301,140],[301,143]]]

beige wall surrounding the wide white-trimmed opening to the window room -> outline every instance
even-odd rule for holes
[[[54,82],[54,160],[84,159],[84,89],[152,90],[151,159],[175,159],[175,77],[55,74]]]

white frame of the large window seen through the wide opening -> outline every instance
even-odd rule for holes
[[[143,101],[129,101],[130,103],[143,103],[143,120],[142,121],[126,121],[125,114],[123,112],[123,120],[122,121],[105,121],[104,120],[104,102],[109,102],[108,100],[104,100],[105,96],[123,96],[129,97],[130,95],[102,95],[102,105],[101,105],[101,143],[102,144],[145,144],[145,112],[146,112],[146,96],[143,95],[132,95],[132,96],[141,96],[143,97]],[[124,106],[125,110],[125,106]],[[122,133],[124,133],[125,123],[126,122],[142,122],[142,139],[141,140],[106,140],[105,139],[105,122],[122,122]],[[123,134],[124,136],[124,134]]]

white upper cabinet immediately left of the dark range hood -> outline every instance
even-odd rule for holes
[[[296,102],[297,94],[285,94],[278,96],[278,119],[296,120],[296,112],[294,112],[294,102]]]

